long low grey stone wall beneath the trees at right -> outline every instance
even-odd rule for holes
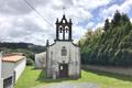
[[[87,69],[132,76],[132,67],[112,67],[112,66],[92,66],[92,65],[87,65],[82,67]]]

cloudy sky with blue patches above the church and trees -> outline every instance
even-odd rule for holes
[[[55,22],[64,14],[73,20],[73,38],[76,43],[88,29],[103,26],[119,10],[132,21],[132,0],[26,0],[37,10],[45,22],[24,0],[0,0],[0,42],[25,42],[45,45],[55,40]],[[53,26],[52,26],[52,25]]]

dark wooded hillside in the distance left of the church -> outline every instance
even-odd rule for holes
[[[34,45],[31,43],[8,43],[8,42],[0,43],[0,52],[2,52],[3,54],[23,53],[24,56],[26,56],[28,58],[26,65],[33,65],[34,55],[36,53],[42,53],[45,50],[46,50],[45,46]]]

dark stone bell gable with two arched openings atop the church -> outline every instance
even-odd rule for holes
[[[65,14],[62,20],[56,21],[56,41],[72,41],[72,19],[67,21]]]

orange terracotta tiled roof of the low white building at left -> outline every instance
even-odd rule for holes
[[[19,55],[13,55],[13,56],[4,56],[2,57],[2,62],[11,62],[11,63],[15,63],[20,59],[23,59],[25,56],[19,56]]]

